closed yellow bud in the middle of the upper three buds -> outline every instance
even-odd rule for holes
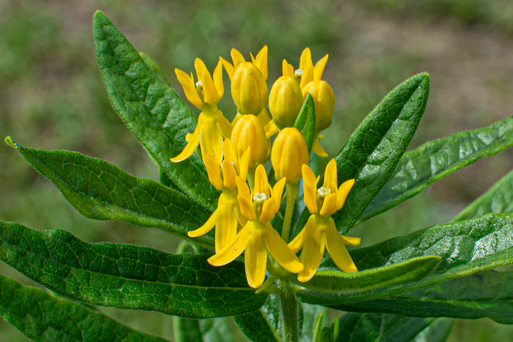
[[[294,77],[281,76],[269,94],[269,111],[279,128],[292,127],[303,105],[303,94]]]

